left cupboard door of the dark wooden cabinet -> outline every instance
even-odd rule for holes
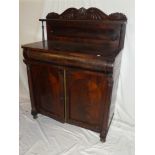
[[[31,65],[36,108],[39,113],[64,122],[64,71],[46,64]]]

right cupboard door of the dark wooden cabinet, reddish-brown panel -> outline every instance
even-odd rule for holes
[[[104,74],[69,70],[67,79],[67,122],[99,132],[106,101]]]

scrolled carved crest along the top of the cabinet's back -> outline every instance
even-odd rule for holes
[[[126,16],[122,13],[112,13],[107,15],[97,8],[69,8],[60,15],[54,12],[49,13],[46,18],[64,20],[127,20]]]

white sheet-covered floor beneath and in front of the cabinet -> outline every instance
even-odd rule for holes
[[[106,143],[99,134],[62,124],[41,114],[30,114],[30,103],[20,103],[20,155],[134,155],[134,129],[115,118]]]

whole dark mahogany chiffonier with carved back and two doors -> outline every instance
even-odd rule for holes
[[[99,132],[104,142],[114,113],[126,16],[69,8],[40,21],[42,41],[22,46],[31,114]]]

